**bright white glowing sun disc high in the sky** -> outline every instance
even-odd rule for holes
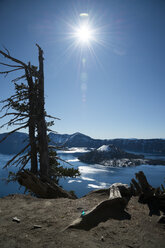
[[[93,40],[93,31],[89,25],[82,25],[76,29],[75,37],[79,43],[89,44]]]

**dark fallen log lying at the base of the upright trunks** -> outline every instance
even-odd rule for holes
[[[19,172],[17,174],[17,180],[20,185],[24,186],[40,198],[64,197],[76,199],[75,195],[65,191],[48,178],[41,179],[28,170]]]

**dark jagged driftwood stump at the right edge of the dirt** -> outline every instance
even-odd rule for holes
[[[147,181],[142,171],[135,174],[136,179],[132,179],[131,190],[133,195],[139,196],[139,202],[147,204],[150,210],[149,215],[160,215],[160,211],[165,214],[165,192],[160,188],[153,188]]]

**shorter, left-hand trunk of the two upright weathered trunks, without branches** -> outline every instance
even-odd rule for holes
[[[30,68],[30,63],[29,63]],[[29,95],[29,140],[30,140],[30,157],[31,157],[31,171],[36,174],[38,172],[38,163],[37,163],[37,147],[36,147],[36,138],[35,138],[35,89],[34,82],[32,79],[32,75],[28,69],[25,70],[26,79],[28,82],[28,95]]]

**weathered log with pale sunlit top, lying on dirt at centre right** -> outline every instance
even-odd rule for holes
[[[108,200],[100,202],[92,210],[87,211],[84,215],[73,221],[67,228],[90,230],[100,222],[107,221],[109,218],[118,220],[130,219],[130,214],[124,210],[130,199],[128,195],[129,188],[126,188],[124,184],[112,185]]]

